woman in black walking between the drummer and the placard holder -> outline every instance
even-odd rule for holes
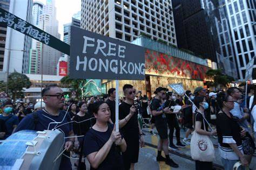
[[[86,103],[80,102],[78,104],[78,108],[79,112],[73,117],[73,121],[76,121],[73,123],[73,131],[75,133],[75,136],[84,136],[86,132],[91,128],[90,121],[85,121],[87,119],[90,119],[90,115],[87,113]],[[78,150],[80,149],[80,146],[83,145],[82,141],[83,137],[75,138],[75,147],[78,148]],[[78,166],[78,161],[76,163],[77,164],[75,164],[75,166]]]

